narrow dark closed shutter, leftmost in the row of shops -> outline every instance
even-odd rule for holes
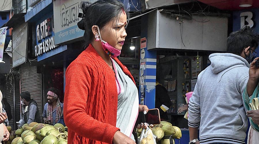
[[[12,126],[14,130],[14,84],[12,81],[13,77],[10,77],[9,75],[6,76],[6,83],[5,83],[5,90],[4,90],[4,96],[7,99],[7,102],[11,106],[11,112],[12,112],[12,120],[9,120],[9,126]]]

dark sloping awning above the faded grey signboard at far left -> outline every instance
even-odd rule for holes
[[[8,22],[6,22],[5,24],[3,24],[1,27],[8,26],[7,29],[10,29],[10,28],[12,28],[12,27],[15,26],[15,25],[24,23],[24,15],[25,15],[25,14],[26,14],[26,13],[14,14],[14,15],[12,16],[12,18],[11,18],[10,20],[8,20]]]

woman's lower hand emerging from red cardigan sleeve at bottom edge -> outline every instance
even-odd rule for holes
[[[136,144],[130,137],[126,136],[119,130],[114,134],[113,143],[114,144]]]

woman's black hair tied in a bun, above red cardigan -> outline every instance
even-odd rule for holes
[[[117,20],[121,12],[125,12],[129,20],[129,14],[125,10],[123,3],[117,0],[98,0],[92,4],[83,1],[80,5],[84,18],[77,23],[77,26],[79,29],[85,30],[84,39],[86,45],[89,45],[94,39],[93,25],[97,25],[101,30],[111,20]]]

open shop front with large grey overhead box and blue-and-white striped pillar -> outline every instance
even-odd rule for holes
[[[193,16],[196,20],[204,18]],[[181,128],[182,138],[175,139],[178,144],[189,142],[189,131],[186,111],[178,113],[177,109],[186,105],[185,94],[194,90],[197,76],[210,65],[208,56],[226,51],[228,18],[206,18],[208,22],[203,24],[174,19],[163,10],[141,16],[140,104],[160,109],[156,103],[161,95],[156,86],[160,83],[167,90],[171,106],[166,108],[168,119],[163,120]]]

